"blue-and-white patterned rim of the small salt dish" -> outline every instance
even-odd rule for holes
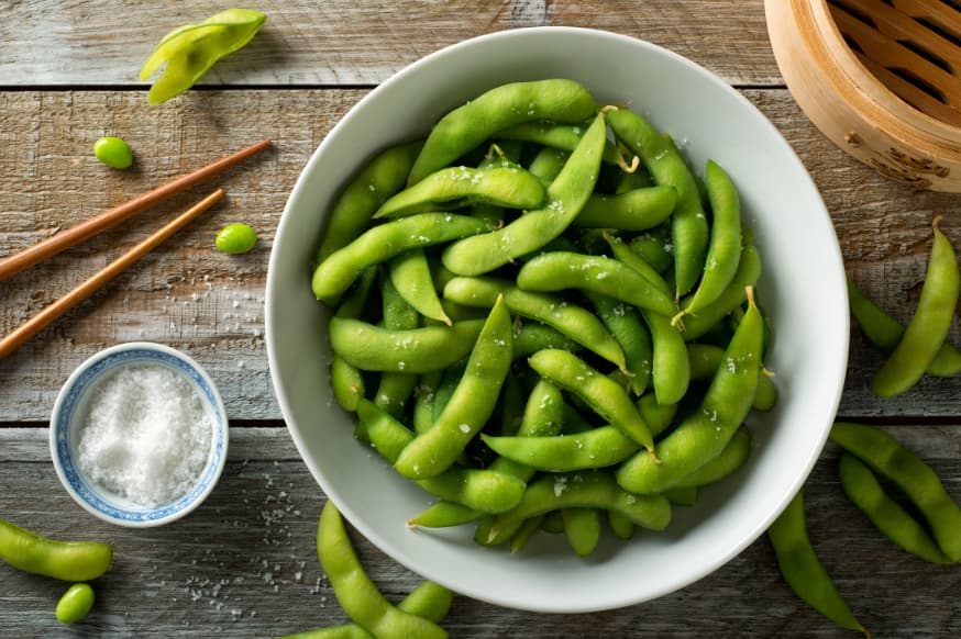
[[[125,354],[131,354],[129,359],[117,359]],[[110,360],[115,361],[110,363]],[[170,360],[179,362],[180,366],[172,365]],[[177,371],[180,374],[184,374],[191,384],[199,386],[196,390],[199,392],[203,403],[211,408],[213,417],[213,424],[211,427],[211,449],[197,483],[185,495],[181,495],[170,504],[165,504],[156,508],[132,511],[123,506],[109,504],[111,511],[114,513],[131,513],[139,516],[124,517],[114,515],[91,503],[86,494],[93,494],[98,501],[107,503],[107,500],[102,495],[90,489],[92,482],[86,480],[84,474],[73,462],[69,451],[69,429],[73,426],[73,422],[64,422],[66,418],[64,412],[73,407],[77,399],[89,392],[90,389],[96,388],[96,385],[103,379],[103,375],[108,372],[115,371],[124,366],[157,361],[168,368],[176,368]],[[98,365],[102,366],[103,369],[96,373],[90,373],[90,371],[97,368]],[[90,374],[92,374],[92,377],[87,379],[87,375]],[[84,386],[78,391],[78,384],[81,383]],[[53,411],[51,412],[51,458],[54,462],[57,478],[60,480],[64,489],[66,489],[67,493],[75,502],[77,502],[77,504],[91,515],[103,522],[128,528],[152,528],[162,526],[186,516],[203,503],[207,496],[213,491],[213,487],[217,485],[220,475],[223,472],[223,468],[227,463],[229,441],[230,424],[227,416],[227,408],[213,379],[192,357],[177,350],[176,348],[154,341],[129,341],[118,344],[104,348],[87,358],[76,369],[74,369],[60,386],[60,391],[54,402]],[[65,455],[67,457],[66,461]],[[70,478],[71,474],[75,475],[76,481],[81,482],[81,485],[84,486],[82,491],[75,486],[74,481],[71,481]],[[153,514],[156,513],[165,514],[154,516]]]

